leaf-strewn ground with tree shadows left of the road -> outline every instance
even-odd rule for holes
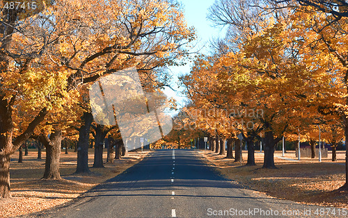
[[[90,168],[91,174],[73,174],[76,169],[76,153],[61,154],[61,180],[40,179],[45,171],[45,155],[36,159],[36,152],[24,156],[23,163],[13,160],[10,163],[11,199],[0,200],[0,217],[17,217],[32,212],[58,206],[76,199],[80,194],[90,190],[109,178],[113,178],[143,159],[144,153],[129,152],[105,168]],[[93,165],[93,152],[90,152],[88,164]],[[16,154],[13,156],[16,158]],[[106,159],[106,156],[104,157]],[[74,163],[74,165],[72,164]]]

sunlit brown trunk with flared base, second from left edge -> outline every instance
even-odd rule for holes
[[[40,141],[46,147],[45,173],[42,178],[61,179],[59,172],[59,158],[61,156],[62,131],[54,128],[54,133],[49,137],[40,135]]]

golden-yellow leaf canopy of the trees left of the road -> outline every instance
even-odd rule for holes
[[[48,119],[67,121],[76,115],[77,101],[88,97],[78,87],[68,92],[67,83],[81,66],[74,77],[77,84],[103,75],[106,67],[175,65],[173,53],[186,53],[184,44],[194,39],[182,8],[171,1],[60,0],[31,18],[15,25],[24,32],[12,35],[8,52],[35,58],[22,72],[26,57],[8,58],[10,67],[1,75],[2,93],[7,99],[17,94],[15,115],[23,122],[43,107],[51,112]],[[106,52],[98,56],[100,51]]]

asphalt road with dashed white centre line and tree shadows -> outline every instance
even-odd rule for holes
[[[161,150],[68,206],[31,217],[329,217],[328,210],[348,212],[271,199],[219,176],[196,151]]]

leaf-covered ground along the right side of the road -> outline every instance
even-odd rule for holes
[[[256,166],[251,167],[244,166],[246,151],[242,165],[212,151],[200,153],[208,165],[248,189],[299,203],[348,208],[348,193],[335,191],[345,183],[344,152],[338,152],[337,162],[331,162],[331,157],[323,158],[322,162],[311,158],[296,161],[294,151],[285,154],[285,158],[292,160],[284,160],[276,153],[274,161],[278,169],[262,169],[260,152],[255,152]]]

